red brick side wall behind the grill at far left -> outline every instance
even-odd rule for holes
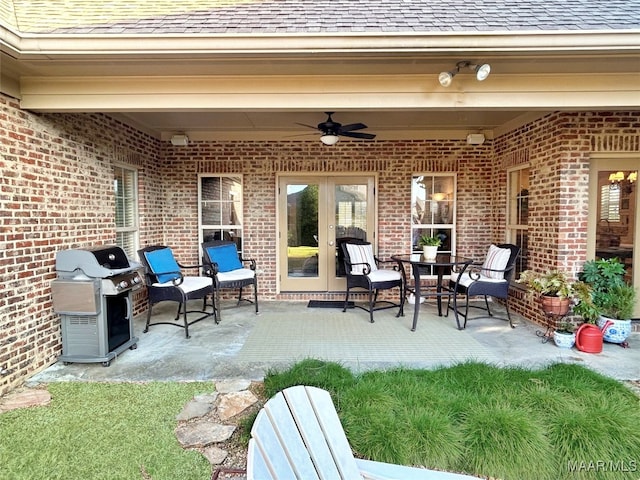
[[[102,115],[36,115],[0,96],[0,369],[8,370],[0,395],[61,353],[55,254],[114,242],[113,162],[151,167],[157,151],[152,139]],[[161,236],[153,189],[161,176],[147,170],[155,181],[146,182],[141,217]]]

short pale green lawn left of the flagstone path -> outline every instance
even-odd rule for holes
[[[0,415],[0,479],[206,479],[176,415],[212,383],[53,383],[49,406]]]

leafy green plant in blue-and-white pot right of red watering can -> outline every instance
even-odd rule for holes
[[[626,344],[631,333],[631,317],[636,290],[624,280],[624,265],[618,258],[589,260],[580,278],[592,286],[593,304],[599,315],[597,325],[606,342]]]

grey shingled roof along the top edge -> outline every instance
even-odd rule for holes
[[[640,29],[640,0],[0,0],[24,33],[304,34]]]

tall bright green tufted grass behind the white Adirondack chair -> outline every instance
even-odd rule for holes
[[[265,395],[297,384],[331,392],[360,457],[505,480],[639,478],[640,399],[577,365],[353,376],[305,360],[269,372]]]

